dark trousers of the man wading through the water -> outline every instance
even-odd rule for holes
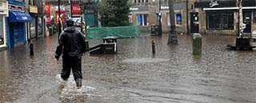
[[[82,79],[82,70],[81,70],[81,59],[72,61],[69,58],[63,58],[62,61],[62,78],[64,80],[68,79],[70,77],[70,71],[72,69],[73,75],[74,75],[74,81],[77,80],[77,78]]]

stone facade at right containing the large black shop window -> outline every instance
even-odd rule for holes
[[[244,33],[251,34],[254,30],[256,30],[256,1],[243,0],[242,6],[243,23],[246,24]],[[236,0],[197,1],[194,2],[194,13],[198,14],[199,33],[237,34],[238,3]]]

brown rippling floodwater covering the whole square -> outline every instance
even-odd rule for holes
[[[82,88],[60,81],[54,60],[57,35],[0,51],[0,103],[255,103],[256,50],[227,50],[232,36],[203,35],[192,55],[190,35],[118,39],[118,54],[82,57]],[[156,54],[152,55],[151,41]],[[102,43],[90,39],[90,46]],[[255,44],[255,42],[254,42]]]

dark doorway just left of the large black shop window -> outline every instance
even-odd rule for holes
[[[199,33],[198,13],[190,13],[190,33]]]

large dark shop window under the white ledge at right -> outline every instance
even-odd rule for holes
[[[233,12],[207,13],[208,30],[234,30]]]

